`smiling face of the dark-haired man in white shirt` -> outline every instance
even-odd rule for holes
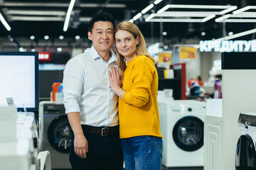
[[[97,52],[109,52],[114,44],[114,28],[110,21],[97,21],[94,23],[92,33],[88,37]]]

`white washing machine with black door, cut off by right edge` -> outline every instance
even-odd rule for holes
[[[235,152],[235,169],[255,170],[256,113],[240,113],[238,126],[240,137]]]

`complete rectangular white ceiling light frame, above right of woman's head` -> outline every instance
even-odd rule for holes
[[[182,8],[183,11],[167,11],[169,8]],[[186,11],[186,9],[200,11]],[[208,5],[175,5],[169,4],[161,8],[154,16],[146,18],[146,22],[188,22],[204,23],[217,15],[223,15],[238,8],[237,6],[208,6]],[[185,9],[185,10],[184,10]],[[204,11],[201,11],[204,9]]]

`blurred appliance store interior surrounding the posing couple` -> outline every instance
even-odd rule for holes
[[[102,11],[156,60],[161,169],[256,170],[255,0],[0,0],[0,169],[72,169],[63,71]]]

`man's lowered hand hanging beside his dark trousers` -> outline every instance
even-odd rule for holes
[[[88,152],[88,142],[84,135],[75,135],[74,149],[75,154],[77,154],[78,157],[86,158],[86,153]]]

